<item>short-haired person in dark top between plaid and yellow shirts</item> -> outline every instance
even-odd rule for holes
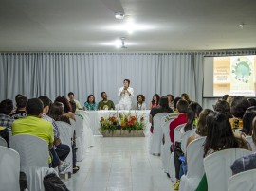
[[[15,113],[10,114],[14,119],[19,119],[27,116],[26,105],[27,105],[27,96],[18,96],[16,99],[17,110]]]

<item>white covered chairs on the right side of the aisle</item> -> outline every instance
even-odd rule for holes
[[[156,120],[155,120],[156,119]],[[174,120],[174,117],[170,113],[160,113],[156,114],[154,117],[154,133],[152,141],[156,140],[155,143],[151,143],[151,146],[157,145],[157,147],[150,148],[151,153],[160,153],[162,159],[162,167],[164,172],[169,173],[171,176],[172,182],[175,182],[175,169],[174,169],[174,152],[170,152],[171,143],[169,137],[169,124]],[[155,123],[156,122],[156,123]],[[201,137],[192,141],[192,143],[187,147],[188,138],[194,134],[195,130],[189,130],[184,132],[185,124],[178,126],[174,130],[174,139],[176,141],[181,141],[181,149],[184,153],[187,153],[187,165],[188,171],[186,175],[183,175],[180,180],[180,191],[193,191],[198,186],[200,180],[202,179],[204,173],[206,173],[208,180],[208,190],[229,190],[229,191],[238,191],[238,190],[253,190],[245,189],[247,186],[242,181],[246,180],[247,177],[253,172],[245,172],[241,175],[231,176],[230,166],[233,162],[245,155],[251,154],[251,151],[246,149],[234,148],[226,149],[222,151],[215,152],[210,156],[203,158],[204,149],[203,144],[206,137]],[[156,132],[156,135],[155,134]],[[158,134],[157,134],[158,133]],[[155,139],[154,139],[155,136]],[[251,145],[251,148],[255,148],[255,145],[252,142],[251,137],[247,137],[248,143]],[[159,144],[161,144],[159,149]],[[155,150],[154,150],[155,149]],[[255,150],[254,150],[255,151]],[[255,173],[255,171],[254,171]],[[253,175],[255,177],[256,174]],[[234,181],[235,180],[235,181]],[[251,178],[248,178],[251,180]],[[234,186],[241,182],[240,186]],[[244,187],[242,187],[242,185]],[[248,184],[249,188],[256,187],[256,183],[250,182]]]

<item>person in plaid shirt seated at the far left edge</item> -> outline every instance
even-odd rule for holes
[[[13,110],[13,102],[10,99],[5,99],[0,103],[0,126],[9,130],[9,136],[12,134],[12,123],[14,119],[9,116]]]

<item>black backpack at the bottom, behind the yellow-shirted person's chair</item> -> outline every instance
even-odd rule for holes
[[[69,191],[64,182],[54,173],[46,175],[44,186],[46,191]]]

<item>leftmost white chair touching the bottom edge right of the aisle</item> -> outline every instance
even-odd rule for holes
[[[201,181],[204,169],[204,147],[206,137],[195,139],[187,148],[188,172],[180,180],[180,191],[194,191]]]

